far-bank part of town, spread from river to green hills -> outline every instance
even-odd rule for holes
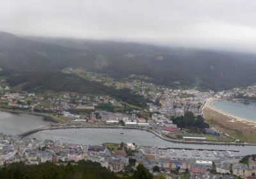
[[[0,107],[2,110],[20,111],[24,113],[43,114],[56,122],[83,121],[88,125],[125,125],[134,127],[150,127],[158,133],[177,139],[182,137],[205,137],[206,141],[237,142],[239,137],[230,137],[218,128],[205,128],[205,134],[188,134],[173,124],[173,118],[184,116],[186,111],[194,116],[204,113],[204,105],[209,98],[235,100],[239,97],[243,102],[250,102],[256,97],[255,86],[234,88],[227,91],[200,91],[196,88],[172,89],[139,79],[113,81],[109,77],[81,69],[68,68],[65,72],[76,72],[91,81],[100,81],[116,89],[127,88],[137,95],[148,99],[146,107],[127,104],[109,95],[91,95],[73,92],[39,91],[28,92],[13,90],[5,79],[0,82]],[[79,72],[79,73],[78,73]],[[89,74],[88,74],[89,73]],[[207,103],[206,103],[207,104]],[[212,109],[211,105],[207,105]],[[207,110],[207,109],[205,109]],[[207,116],[207,114],[205,114]],[[207,118],[206,118],[207,120]],[[209,121],[208,121],[209,122]],[[166,131],[164,131],[166,130]],[[187,132],[187,133],[186,133]],[[175,135],[170,135],[175,134]],[[178,135],[176,135],[178,134]],[[211,134],[216,134],[212,137]],[[223,135],[224,134],[224,135]],[[241,139],[240,139],[241,141]]]

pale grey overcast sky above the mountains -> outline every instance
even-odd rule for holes
[[[255,52],[256,0],[0,0],[0,31]]]

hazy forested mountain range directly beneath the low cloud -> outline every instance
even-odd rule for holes
[[[0,33],[0,66],[12,73],[83,67],[114,78],[146,75],[166,86],[179,81],[217,90],[256,82],[255,59],[246,53]]]

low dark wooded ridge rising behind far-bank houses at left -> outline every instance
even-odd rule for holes
[[[135,95],[129,89],[114,89],[100,82],[83,79],[75,74],[62,72],[26,72],[12,75],[8,81],[11,86],[19,86],[24,91],[71,91],[93,95],[110,95],[129,104],[145,107],[147,100]]]

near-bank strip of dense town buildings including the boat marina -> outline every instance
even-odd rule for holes
[[[35,165],[47,161],[67,164],[92,160],[115,173],[133,171],[143,164],[154,176],[166,178],[252,178],[256,172],[256,157],[244,159],[231,151],[177,150],[134,143],[70,144],[60,140],[19,138],[0,135],[0,166],[12,162]]]

